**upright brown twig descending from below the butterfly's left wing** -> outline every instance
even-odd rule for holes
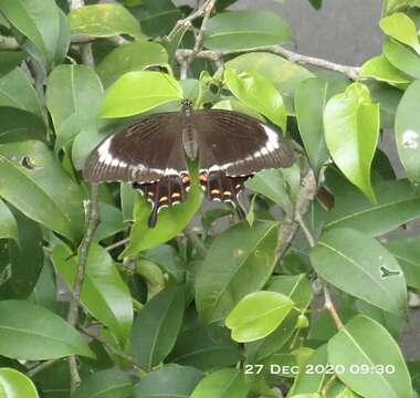
[[[99,224],[99,208],[98,208],[98,193],[99,187],[96,184],[93,184],[91,187],[91,197],[87,203],[86,214],[86,232],[82,240],[80,251],[78,251],[78,263],[76,269],[76,277],[74,280],[74,285],[72,289],[72,297],[70,300],[69,306],[69,315],[67,321],[72,326],[77,324],[78,318],[78,304],[80,297],[82,293],[82,286],[86,274],[86,265],[87,265],[87,255],[88,250],[93,240],[93,235],[97,226]],[[76,357],[73,355],[69,358],[70,373],[71,373],[71,390],[77,387],[81,383],[81,378],[77,370]]]

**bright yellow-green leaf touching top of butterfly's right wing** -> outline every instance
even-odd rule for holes
[[[224,72],[225,84],[234,96],[266,116],[283,130],[286,127],[286,109],[274,85],[258,72]]]

